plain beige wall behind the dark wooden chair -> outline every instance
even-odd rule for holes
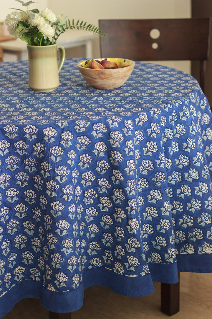
[[[190,18],[191,0],[49,0],[49,8],[57,15],[98,26],[99,19],[168,19]],[[79,31],[80,32],[80,31]],[[99,57],[99,40],[93,41],[93,57]],[[158,63],[158,62],[157,62]],[[190,62],[160,62],[190,73]]]

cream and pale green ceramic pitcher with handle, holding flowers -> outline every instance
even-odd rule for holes
[[[65,49],[57,44],[47,46],[28,45],[29,87],[34,91],[55,90],[59,82],[59,72],[65,60]],[[57,61],[59,49],[59,63]]]

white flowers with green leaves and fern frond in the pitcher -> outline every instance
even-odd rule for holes
[[[105,33],[92,24],[87,24],[83,20],[74,23],[68,19],[65,20],[63,15],[56,16],[50,9],[45,8],[41,12],[38,9],[30,10],[30,5],[35,1],[16,0],[25,7],[25,11],[14,9],[6,16],[5,24],[13,38],[20,38],[27,42],[27,45],[46,46],[55,44],[59,35],[68,29],[82,29],[92,31],[93,33],[105,36]],[[17,11],[18,10],[18,11]]]

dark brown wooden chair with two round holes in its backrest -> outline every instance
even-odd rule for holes
[[[134,61],[197,60],[204,92],[211,18],[99,20],[101,57]]]

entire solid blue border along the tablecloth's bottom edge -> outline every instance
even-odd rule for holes
[[[178,264],[178,265],[177,265]],[[73,312],[82,307],[84,291],[91,286],[105,286],[113,292],[131,297],[154,293],[153,281],[174,284],[178,282],[177,272],[212,272],[212,254],[177,255],[177,263],[148,263],[150,274],[127,277],[104,268],[92,268],[83,274],[79,288],[70,292],[53,292],[34,280],[21,280],[0,298],[0,318],[15,304],[25,298],[38,298],[47,310],[52,312]]]

